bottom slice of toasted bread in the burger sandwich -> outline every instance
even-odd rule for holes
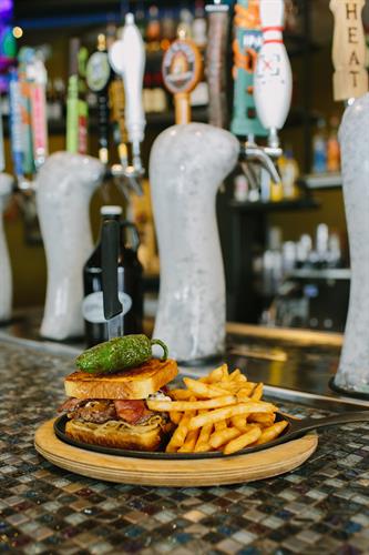
[[[161,417],[156,416],[148,425],[126,426],[119,421],[93,424],[71,420],[65,424],[65,433],[73,440],[94,445],[130,451],[157,451],[164,434],[160,421]]]

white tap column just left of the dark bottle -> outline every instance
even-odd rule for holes
[[[37,176],[37,205],[48,263],[41,335],[83,335],[83,265],[92,251],[90,199],[104,165],[91,157],[57,152]]]

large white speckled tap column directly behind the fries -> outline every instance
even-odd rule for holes
[[[238,152],[234,135],[203,123],[167,129],[151,152],[161,258],[154,336],[180,361],[224,351],[225,279],[215,195]]]

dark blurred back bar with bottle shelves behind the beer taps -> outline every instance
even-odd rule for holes
[[[228,103],[226,127],[229,128],[235,6],[226,3],[225,98]],[[90,212],[94,243],[99,236],[100,209],[103,205],[120,204],[123,216],[136,225],[141,240],[137,252],[144,271],[145,302],[151,313],[155,313],[160,262],[147,180],[148,155],[155,138],[174,123],[173,98],[163,83],[162,59],[176,38],[178,28],[182,28],[192,37],[205,60],[205,3],[202,0],[175,3],[146,0],[2,0],[1,10],[1,111],[8,173],[13,173],[13,170],[6,69],[16,64],[18,53],[24,47],[41,52],[47,69],[49,152],[63,150],[73,41],[75,44],[78,38],[78,49],[83,47],[83,56],[88,59],[96,50],[99,37],[105,37],[104,40],[111,43],[120,37],[125,13],[129,10],[134,13],[146,56],[143,78],[146,128],[142,143],[143,168],[146,169],[142,181],[144,194],[139,196],[130,191],[127,201],[121,186],[116,186],[114,180],[106,180],[94,192]],[[337,139],[344,104],[334,102],[331,84],[334,18],[326,0],[286,0],[285,10],[284,40],[293,68],[293,99],[287,122],[280,131],[283,154],[276,163],[281,183],[273,183],[268,175],[263,174],[255,189],[237,167],[217,195],[226,272],[227,320],[341,332],[346,321],[350,273]],[[362,13],[365,29],[368,29],[368,14],[366,7]],[[72,58],[78,63],[76,57]],[[81,59],[79,63],[81,70]],[[101,148],[100,93],[85,85],[84,77],[80,79],[79,87],[80,105],[83,99],[89,114],[88,153],[98,158]],[[205,74],[191,93],[193,121],[208,121],[208,103],[205,69]],[[121,161],[115,148],[120,123],[114,121],[113,110],[107,122],[111,164]],[[4,226],[13,275],[13,305],[16,309],[41,306],[45,299],[45,258],[29,198],[13,196],[4,213]],[[337,299],[341,300],[339,310]]]

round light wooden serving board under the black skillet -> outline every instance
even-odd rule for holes
[[[55,436],[53,423],[54,420],[48,421],[35,432],[34,447],[42,456],[66,471],[123,484],[182,487],[253,482],[293,471],[309,458],[318,445],[317,434],[309,433],[265,451],[222,458],[133,458],[69,445]]]

